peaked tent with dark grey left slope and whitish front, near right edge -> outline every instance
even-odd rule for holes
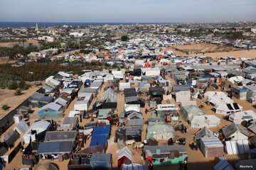
[[[248,140],[249,132],[239,125],[232,123],[222,129],[223,135],[230,140]]]

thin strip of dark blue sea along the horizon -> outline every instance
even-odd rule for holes
[[[41,23],[38,22],[38,27],[53,27],[53,26],[103,26],[103,25],[134,25],[137,23]],[[139,23],[139,24],[174,24],[174,23]],[[0,28],[21,28],[21,27],[36,27],[36,22],[0,22]]]

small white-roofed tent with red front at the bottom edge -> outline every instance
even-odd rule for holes
[[[132,163],[132,152],[128,147],[124,147],[118,152],[117,167],[120,168],[122,164]]]

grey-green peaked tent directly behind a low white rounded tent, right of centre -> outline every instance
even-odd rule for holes
[[[205,113],[197,106],[188,105],[181,108],[180,115],[182,115],[185,120],[191,121],[195,115],[205,115]]]

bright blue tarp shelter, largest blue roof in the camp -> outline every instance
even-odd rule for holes
[[[105,145],[110,136],[110,125],[96,126],[92,132],[90,147]]]

